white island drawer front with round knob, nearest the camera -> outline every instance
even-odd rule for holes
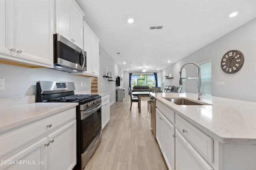
[[[176,128],[210,163],[213,163],[213,139],[176,114]]]

